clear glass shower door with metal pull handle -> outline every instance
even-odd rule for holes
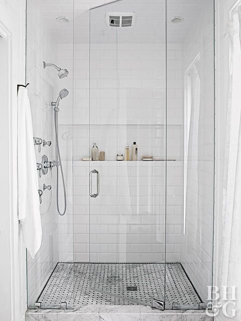
[[[89,161],[90,295],[163,308],[165,1],[91,10],[89,54],[89,157],[94,143],[99,151],[99,161]]]

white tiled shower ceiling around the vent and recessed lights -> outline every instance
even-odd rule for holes
[[[35,0],[45,24],[58,43],[165,43],[166,0],[122,0],[94,10],[91,8],[111,3],[109,0]],[[167,0],[168,42],[181,43],[204,11],[213,11],[211,0]],[[136,25],[130,28],[109,28],[105,25],[106,12],[136,12]],[[90,13],[90,15],[89,15]],[[64,16],[69,23],[60,24],[56,18]],[[181,16],[184,22],[170,23]]]

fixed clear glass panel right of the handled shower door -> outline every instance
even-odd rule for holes
[[[167,0],[165,308],[203,309],[212,285],[214,2],[183,7]]]

